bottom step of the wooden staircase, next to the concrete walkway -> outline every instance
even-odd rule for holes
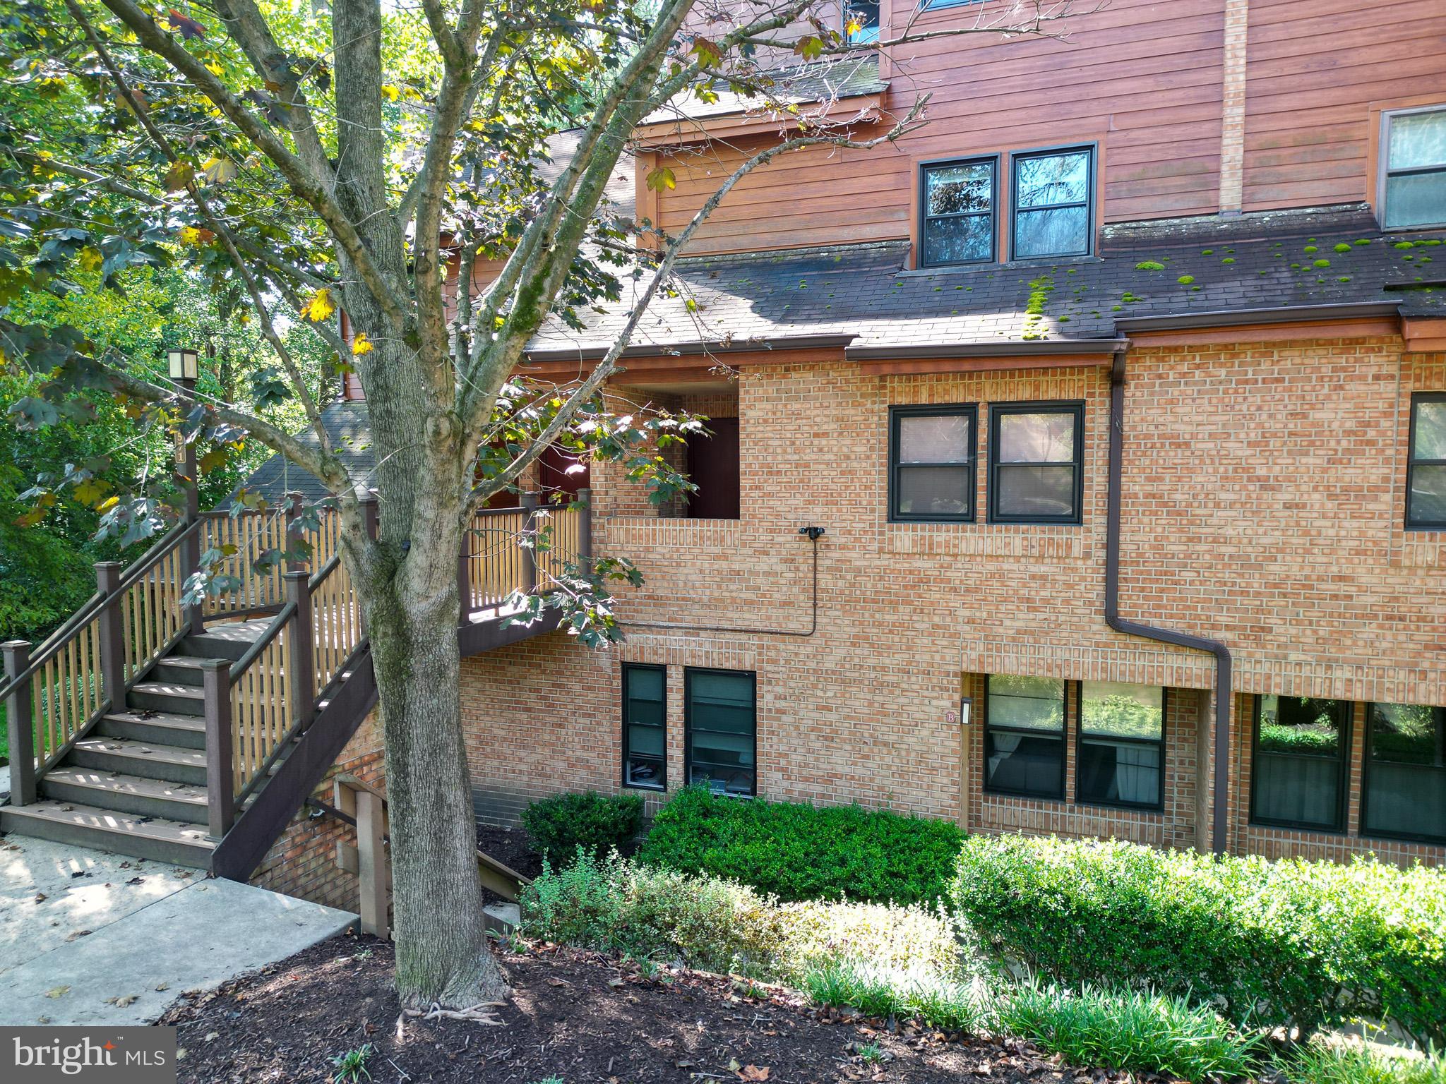
[[[163,818],[140,818],[78,802],[0,805],[0,830],[80,847],[208,869],[215,847],[204,828]]]

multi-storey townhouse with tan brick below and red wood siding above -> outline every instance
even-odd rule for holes
[[[982,12],[860,7],[884,38]],[[535,480],[589,486],[646,582],[619,648],[464,659],[479,818],[707,782],[1440,863],[1446,10],[1116,0],[824,78],[862,134],[921,90],[930,123],[777,159],[688,249],[612,393],[711,419],[691,499]],[[619,198],[678,230],[769,139],[659,116]],[[525,373],[578,377],[620,321]]]

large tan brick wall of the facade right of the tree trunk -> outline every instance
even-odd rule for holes
[[[683,668],[753,669],[769,796],[889,805],[983,831],[1199,841],[1212,766],[1194,727],[1213,663],[1112,633],[1102,617],[1108,383],[1096,367],[746,370],[737,522],[659,519],[616,471],[594,468],[597,552],[646,577],[620,607],[628,642],[587,650],[557,633],[463,662],[480,814],[508,821],[544,792],[617,789],[619,665],[642,661],[669,666],[671,783],[683,778]],[[1403,354],[1394,338],[1132,350],[1122,616],[1226,640],[1241,694],[1446,702],[1446,539],[1401,530],[1410,393],[1442,387],[1446,356]],[[983,464],[988,406],[1043,399],[1086,405],[1080,526],[888,523],[889,405],[979,403]],[[810,523],[827,535],[817,627],[804,636],[811,556],[797,532]],[[1165,811],[985,795],[980,730],[963,737],[953,713],[991,672],[1168,687]],[[1442,859],[1353,828],[1320,841],[1246,827],[1241,711],[1232,846]]]

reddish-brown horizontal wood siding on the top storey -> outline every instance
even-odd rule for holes
[[[912,0],[895,0],[886,22],[901,26],[911,13]],[[925,12],[914,29],[980,17],[988,7],[977,4]],[[1446,101],[1446,6],[1249,0],[1246,17],[1244,210],[1369,198],[1372,103]],[[1115,0],[1071,16],[1063,42],[979,33],[901,46],[886,65],[885,107],[902,114],[930,93],[924,129],[872,150],[777,159],[737,185],[691,251],[910,237],[920,160],[1070,143],[1099,145],[1102,221],[1215,214],[1225,23],[1226,0]],[[672,158],[678,186],[656,199],[664,228],[681,228],[766,145],[739,137]],[[1004,212],[1006,156],[999,181]]]

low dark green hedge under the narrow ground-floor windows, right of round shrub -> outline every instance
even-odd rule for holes
[[[785,900],[907,905],[946,893],[962,840],[949,821],[685,788],[658,811],[638,857],[740,880]]]

